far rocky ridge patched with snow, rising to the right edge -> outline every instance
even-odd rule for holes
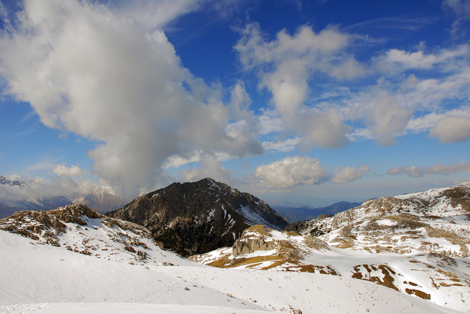
[[[367,200],[333,217],[297,222],[286,230],[352,250],[469,257],[470,189],[461,185]]]

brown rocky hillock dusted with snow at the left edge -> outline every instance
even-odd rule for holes
[[[16,212],[0,219],[0,230],[24,235],[35,244],[50,244],[126,264],[189,264],[173,252],[161,250],[147,228],[105,217],[81,204],[51,211]]]

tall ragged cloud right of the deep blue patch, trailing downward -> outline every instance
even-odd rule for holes
[[[242,38],[235,49],[247,70],[260,75],[260,87],[267,88],[271,101],[283,123],[283,128],[305,136],[309,145],[343,146],[350,129],[335,109],[308,111],[304,102],[309,95],[310,78],[316,75],[344,80],[364,76],[365,67],[347,53],[354,38],[327,27],[318,34],[303,26],[293,35],[283,30],[276,39],[264,39],[259,25],[250,24],[241,31]]]

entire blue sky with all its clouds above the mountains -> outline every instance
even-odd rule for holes
[[[0,198],[470,181],[469,0],[0,3],[0,175],[29,183]]]

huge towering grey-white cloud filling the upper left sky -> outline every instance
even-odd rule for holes
[[[159,5],[174,8],[169,18],[192,10],[167,2]],[[89,1],[25,1],[18,29],[0,39],[7,93],[48,127],[101,143],[88,152],[93,172],[128,196],[154,186],[170,156],[262,153],[250,114],[246,127],[236,123],[246,107],[231,116],[220,90],[182,67],[162,31],[114,12]]]

